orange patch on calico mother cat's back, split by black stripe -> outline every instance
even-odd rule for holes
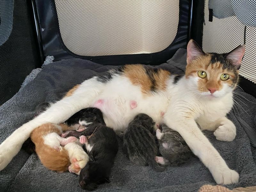
[[[147,70],[149,70],[152,75],[151,78],[147,74]],[[133,85],[140,86],[143,94],[149,94],[153,86],[156,90],[165,90],[169,75],[169,71],[158,69],[157,72],[155,72],[153,69],[146,69],[140,64],[126,65],[124,67],[124,76],[129,78]]]

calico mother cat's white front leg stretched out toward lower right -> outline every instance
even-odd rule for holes
[[[217,184],[237,183],[239,174],[228,168],[220,153],[198,128],[194,119],[179,117],[174,113],[164,116],[165,124],[179,132],[193,153],[210,170]],[[170,118],[167,118],[170,117]]]

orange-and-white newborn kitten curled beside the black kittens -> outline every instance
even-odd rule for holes
[[[75,137],[60,137],[62,131],[69,129],[70,127],[65,124],[46,123],[31,132],[30,138],[46,168],[60,173],[69,170],[79,174],[80,169],[89,161],[89,157],[81,146],[73,143],[77,140]]]

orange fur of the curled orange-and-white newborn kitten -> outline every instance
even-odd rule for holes
[[[65,130],[67,127],[64,125],[65,124],[60,124],[60,126]],[[52,132],[61,134],[61,131],[56,127],[56,125],[46,123],[31,132],[30,138],[36,146],[36,154],[44,167],[52,171],[65,172],[68,170],[68,166],[70,165],[68,151],[64,148],[57,151],[56,149],[44,144],[44,136]]]

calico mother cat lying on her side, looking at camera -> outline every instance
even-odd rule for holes
[[[103,98],[103,102],[113,101],[103,114],[107,126],[115,131],[123,131],[135,115],[146,113],[156,124],[165,123],[179,132],[218,184],[238,182],[239,174],[228,168],[196,122],[201,129],[214,131],[216,139],[232,141],[235,138],[236,127],[225,116],[233,105],[232,91],[238,82],[245,45],[225,54],[204,53],[190,40],[187,52],[184,76],[142,65],[126,65],[76,85],[0,145],[0,170],[19,152],[37,126],[64,122]],[[131,109],[130,101],[136,101],[137,107]]]

